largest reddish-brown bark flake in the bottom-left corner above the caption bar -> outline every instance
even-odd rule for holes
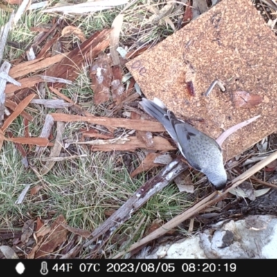
[[[51,224],[51,233],[44,240],[42,247],[35,253],[35,258],[45,257],[53,253],[53,251],[66,241],[67,230],[64,229],[62,224],[66,224],[63,215],[59,215],[55,222]]]

